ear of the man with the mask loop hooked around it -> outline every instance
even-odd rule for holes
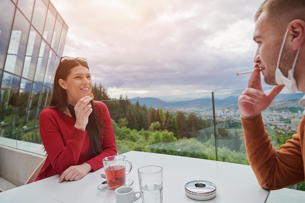
[[[292,20],[288,29],[292,35],[292,49],[298,50],[305,43],[305,22],[300,19]]]

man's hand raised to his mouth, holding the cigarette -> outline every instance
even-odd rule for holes
[[[261,74],[256,65],[249,78],[248,88],[238,97],[238,107],[241,115],[251,117],[264,111],[284,87],[284,85],[276,85],[266,94],[263,91]]]

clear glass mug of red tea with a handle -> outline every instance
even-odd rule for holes
[[[126,162],[129,163],[129,169],[126,171]],[[103,159],[103,165],[109,189],[116,189],[125,185],[126,174],[130,173],[133,165],[126,160],[124,155],[108,156]]]

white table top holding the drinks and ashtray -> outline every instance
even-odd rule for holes
[[[130,151],[124,153],[133,163],[127,179],[139,190],[137,169],[146,165],[163,167],[163,203],[265,203],[268,190],[258,185],[250,166],[205,159]],[[22,169],[22,168],[20,168]],[[52,176],[32,184],[22,185],[0,193],[1,203],[113,203],[114,193],[97,189],[105,179],[101,168],[79,181],[58,183]],[[209,201],[191,200],[184,185],[193,180],[212,182],[217,195]]]

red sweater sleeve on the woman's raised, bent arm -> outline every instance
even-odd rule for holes
[[[74,127],[63,129],[60,122],[60,117],[52,109],[47,108],[39,114],[40,137],[51,165],[59,175],[77,164],[87,133]]]

